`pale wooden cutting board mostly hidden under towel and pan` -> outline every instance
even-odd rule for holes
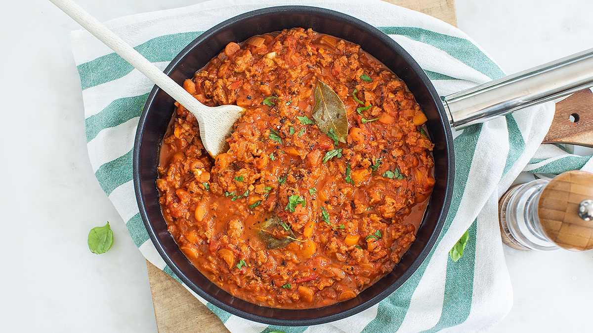
[[[454,0],[386,0],[457,25]],[[160,333],[228,332],[220,319],[176,280],[146,261]]]

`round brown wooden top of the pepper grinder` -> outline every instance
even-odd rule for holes
[[[541,192],[537,206],[541,228],[561,248],[593,249],[593,220],[579,216],[585,200],[593,200],[593,174],[585,171],[560,174]]]

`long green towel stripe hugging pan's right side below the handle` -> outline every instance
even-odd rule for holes
[[[474,152],[476,152],[476,145],[482,132],[482,124],[468,127],[457,136],[454,140],[455,148],[455,182],[454,191],[452,193],[451,206],[445,225],[441,230],[436,244],[441,242],[442,237],[445,235],[457,211],[461,204],[461,198],[467,185],[467,179],[471,170],[471,162],[474,158]],[[428,262],[431,261],[432,255],[435,252],[436,244],[429,252],[426,259],[420,264],[420,267],[412,274],[412,276],[404,282],[393,294],[388,296],[386,299],[379,303],[377,310],[377,316],[368,325],[366,325],[363,332],[378,332],[384,331],[385,327],[390,328],[390,331],[397,331],[400,328],[401,323],[406,317],[407,310],[410,307],[410,300],[412,300],[412,294],[415,292],[416,287],[420,283]],[[470,257],[468,255],[467,257]],[[472,290],[473,292],[473,290]]]

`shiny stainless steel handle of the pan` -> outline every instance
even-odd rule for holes
[[[454,129],[593,86],[593,49],[442,98]]]

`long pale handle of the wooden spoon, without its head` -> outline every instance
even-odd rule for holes
[[[134,68],[146,75],[154,84],[167,92],[167,94],[181,103],[181,105],[191,111],[196,117],[203,116],[209,109],[74,1],[49,1],[62,9],[63,12],[82,25],[88,32],[97,37],[98,40],[109,46],[111,50],[129,62]]]

